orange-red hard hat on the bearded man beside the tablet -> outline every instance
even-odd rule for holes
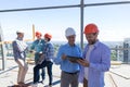
[[[93,34],[93,33],[99,33],[98,26],[95,24],[88,24],[84,27],[84,34]]]

